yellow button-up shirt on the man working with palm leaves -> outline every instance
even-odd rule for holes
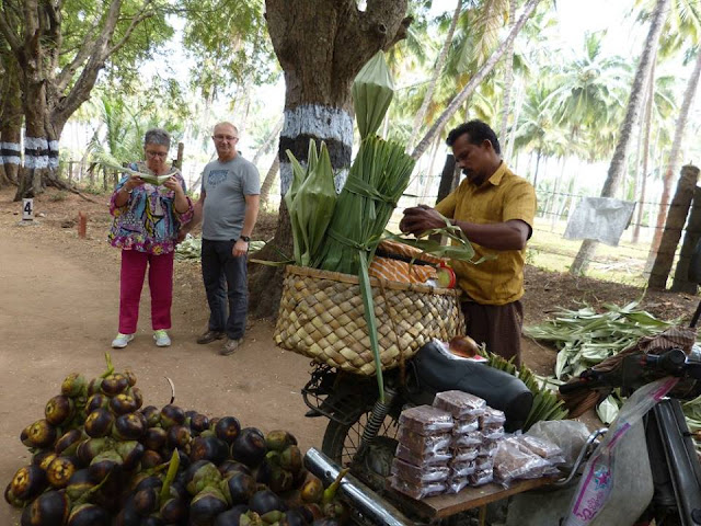
[[[436,209],[459,221],[489,225],[520,219],[533,227],[536,192],[522,178],[514,174],[504,161],[480,186],[468,179],[460,183]],[[474,261],[480,264],[453,261],[458,285],[468,297],[482,305],[505,305],[524,295],[524,259],[526,250],[493,250],[472,243]]]

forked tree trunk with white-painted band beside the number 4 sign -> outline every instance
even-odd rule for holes
[[[122,4],[123,0],[104,4],[102,16],[96,13],[94,31],[65,65],[60,64],[66,58],[61,48],[60,3],[24,0],[21,23],[13,10],[0,9],[0,36],[18,65],[25,116],[25,165],[15,201],[36,195],[46,185],[67,188],[56,175],[61,130],[68,118],[90,99],[105,61],[152,15],[150,0],[143,0],[131,15],[122,12]],[[119,21],[128,25],[113,38]]]

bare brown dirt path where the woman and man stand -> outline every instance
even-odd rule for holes
[[[1,205],[5,205],[0,208],[5,213],[0,215],[0,482],[4,489],[30,459],[20,432],[44,416],[44,405],[60,391],[64,377],[73,370],[88,377],[104,370],[104,352],[111,351],[116,331],[118,251],[101,245],[99,239],[78,240],[72,230],[58,230],[54,239],[42,227],[18,227],[16,216],[7,213],[7,203]],[[104,231],[94,237],[104,238]],[[169,376],[176,387],[176,403],[186,410],[235,415],[243,425],[264,431],[287,428],[304,448],[320,445],[323,422],[303,419],[306,407],[299,395],[309,361],[276,348],[267,322],[254,323],[245,345],[233,356],[216,354],[217,344],[195,344],[206,306],[202,295],[183,286],[176,282],[172,347],[153,344],[145,287],[136,340],[126,350],[112,352],[117,368],[129,366],[136,371],[146,403],[168,403],[164,377]],[[193,327],[193,319],[203,324]],[[18,523],[19,513],[3,501],[0,524]]]

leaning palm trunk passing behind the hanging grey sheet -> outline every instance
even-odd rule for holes
[[[655,11],[652,15],[652,22],[650,23],[650,31],[647,32],[647,38],[643,47],[643,53],[637,64],[637,70],[635,71],[635,78],[633,79],[633,85],[631,88],[631,96],[628,101],[628,108],[625,110],[625,117],[621,124],[619,132],[618,144],[616,145],[616,151],[609,165],[609,172],[604,182],[604,188],[601,190],[601,197],[613,197],[623,178],[623,172],[627,167],[628,152],[631,144],[631,136],[633,126],[637,121],[637,114],[643,102],[644,87],[650,78],[652,65],[655,58],[655,50],[659,42],[659,34],[667,15],[667,5],[669,0],[657,0]],[[590,239],[584,240],[579,252],[574,259],[570,273],[574,275],[583,274],[594,253],[596,252],[597,242]]]

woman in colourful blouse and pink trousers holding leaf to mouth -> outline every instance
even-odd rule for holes
[[[110,201],[114,222],[108,240],[122,249],[119,332],[112,342],[115,348],[126,347],[134,339],[147,266],[153,339],[159,347],[171,344],[166,330],[171,328],[173,254],[181,225],[193,217],[193,204],[185,195],[182,174],[165,162],[170,146],[165,130],[149,129],[143,137],[146,163],[129,167],[137,173],[123,176]],[[145,180],[150,179],[147,175],[166,174],[170,178],[160,185]]]

